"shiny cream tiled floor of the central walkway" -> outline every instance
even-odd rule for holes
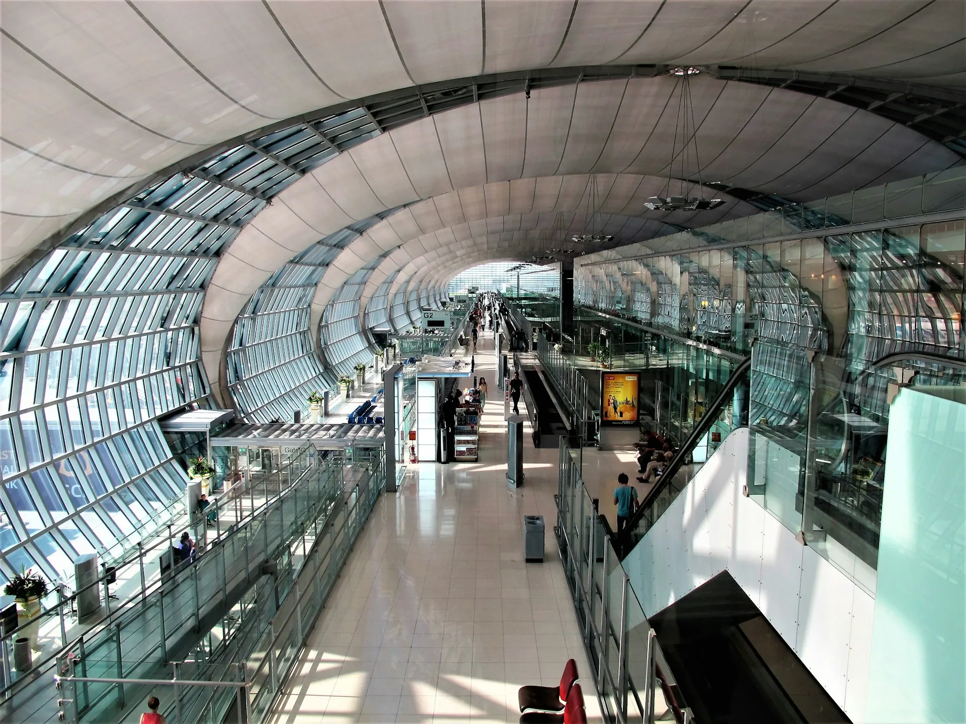
[[[492,349],[489,334],[481,351]],[[477,353],[477,374],[492,354]],[[423,462],[377,504],[273,721],[517,721],[517,689],[554,685],[583,653],[554,543],[555,450],[525,435],[526,487],[505,484],[502,396],[490,380],[477,463]],[[414,466],[416,467],[416,466]],[[544,515],[545,562],[523,560],[523,516]],[[593,682],[587,713],[600,721]]]

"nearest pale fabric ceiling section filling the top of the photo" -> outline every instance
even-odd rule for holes
[[[960,0],[4,2],[0,261],[159,169],[344,99],[611,63],[961,85],[964,19]]]

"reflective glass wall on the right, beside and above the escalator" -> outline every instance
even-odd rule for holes
[[[933,176],[870,194],[884,209],[898,209],[900,187],[915,203],[898,210],[961,209],[966,183],[957,173],[947,174],[945,185]],[[805,210],[800,226],[867,221],[853,196]],[[966,380],[966,220],[950,215],[644,259],[590,259],[579,276],[578,294],[588,307],[611,303],[605,311],[616,318],[752,353],[750,493],[869,590],[895,391]],[[747,229],[763,223],[738,221]],[[776,225],[772,232],[789,229]],[[657,310],[650,320],[613,304],[627,271],[640,281],[622,293],[649,293]],[[669,323],[675,308],[676,325]]]

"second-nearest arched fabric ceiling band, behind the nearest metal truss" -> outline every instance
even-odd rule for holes
[[[214,273],[201,320],[210,379],[248,296],[294,254],[357,220],[452,191],[488,217],[485,191],[469,189],[499,181],[668,175],[678,82],[609,80],[484,100],[384,133],[294,182],[241,231]],[[832,100],[704,75],[692,86],[706,180],[810,200],[960,161],[905,126]],[[634,190],[611,189],[611,202],[622,209]],[[325,286],[403,241],[391,218],[379,225],[383,236],[344,253],[337,281],[324,277]]]

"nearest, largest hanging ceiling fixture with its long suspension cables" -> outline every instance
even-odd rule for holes
[[[675,68],[670,71],[671,75],[681,78],[681,95],[677,103],[677,120],[674,125],[674,140],[670,145],[670,162],[668,163],[668,182],[662,189],[661,196],[652,196],[644,206],[652,211],[704,211],[717,209],[725,203],[724,199],[705,199],[704,186],[701,184],[701,162],[697,156],[697,126],[695,124],[695,102],[691,97],[691,76],[698,72],[696,68]],[[677,150],[678,131],[681,134],[681,148]],[[695,163],[691,165],[689,147],[694,146]],[[671,178],[674,176],[673,169],[675,161],[678,162],[680,173],[677,178],[680,181],[680,193],[672,195],[670,193]],[[700,196],[688,196],[685,191],[685,183],[693,174],[697,175],[697,187],[700,189]],[[690,190],[690,189],[689,189]]]

